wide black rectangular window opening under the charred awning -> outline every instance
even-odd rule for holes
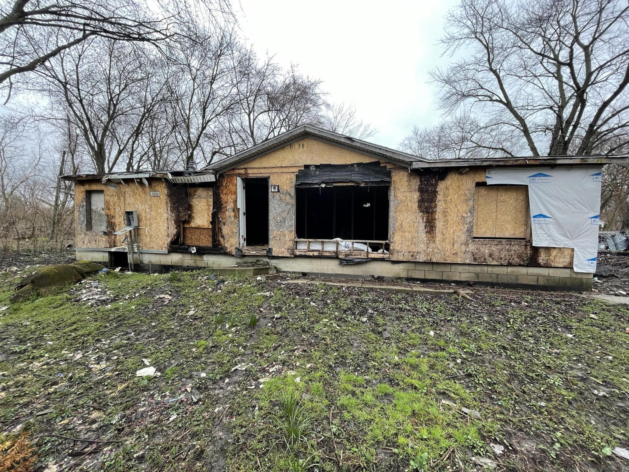
[[[388,186],[342,185],[295,190],[298,239],[388,239]]]

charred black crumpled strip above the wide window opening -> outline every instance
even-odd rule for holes
[[[299,169],[297,186],[318,186],[326,183],[357,183],[363,185],[388,185],[391,171],[379,162],[359,164],[320,164]]]

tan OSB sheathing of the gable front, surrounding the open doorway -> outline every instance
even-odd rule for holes
[[[295,176],[305,165],[354,164],[377,159],[312,138],[304,138],[245,162],[218,177],[218,245],[233,254],[238,245],[237,177],[269,177],[269,233],[274,256],[292,256],[295,239]],[[398,168],[382,162],[383,166]],[[404,169],[408,172],[408,169]]]

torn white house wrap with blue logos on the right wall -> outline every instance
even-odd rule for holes
[[[486,181],[527,185],[533,245],[572,247],[574,271],[596,271],[601,166],[487,169]]]

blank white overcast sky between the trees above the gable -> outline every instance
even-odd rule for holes
[[[240,0],[242,32],[260,53],[323,80],[330,100],[355,104],[378,133],[372,142],[398,147],[413,125],[438,120],[437,87],[428,71],[452,0]]]

